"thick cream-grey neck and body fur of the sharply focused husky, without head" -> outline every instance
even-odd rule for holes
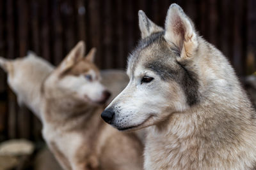
[[[200,103],[149,127],[145,169],[252,169],[255,164],[255,111],[223,55],[209,44],[201,48],[208,48],[209,56],[196,61]]]

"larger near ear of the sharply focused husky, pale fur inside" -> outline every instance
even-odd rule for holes
[[[194,24],[177,4],[172,4],[168,10],[164,38],[178,48],[179,60],[193,57],[198,47]]]

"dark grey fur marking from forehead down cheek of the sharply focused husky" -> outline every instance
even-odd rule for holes
[[[138,43],[138,46],[132,52],[131,67],[132,74],[136,68],[136,64],[140,59],[140,52],[145,48],[150,48],[150,45],[158,42],[159,48],[152,50],[154,53],[154,59],[150,62],[147,62],[145,67],[154,71],[158,74],[162,80],[170,81],[174,80],[182,87],[184,94],[186,95],[187,103],[189,106],[198,103],[198,86],[197,74],[194,71],[190,71],[186,68],[185,64],[180,64],[177,62],[176,57],[179,57],[180,51],[179,47],[170,45],[167,46],[165,39],[163,38],[164,31],[156,32],[148,36],[147,38],[141,39]],[[156,56],[155,56],[156,55]],[[172,63],[168,64],[166,61],[173,58]]]

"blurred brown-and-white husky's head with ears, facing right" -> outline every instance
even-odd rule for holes
[[[100,83],[99,69],[93,64],[95,48],[84,57],[80,41],[44,83],[45,97],[74,104],[104,104],[110,96]]]

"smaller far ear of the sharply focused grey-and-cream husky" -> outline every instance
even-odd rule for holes
[[[158,25],[154,24],[148,17],[145,15],[143,11],[139,11],[139,26],[141,31],[141,38],[145,38],[147,36],[150,36],[150,34],[154,32],[163,31],[162,27],[159,27]]]

